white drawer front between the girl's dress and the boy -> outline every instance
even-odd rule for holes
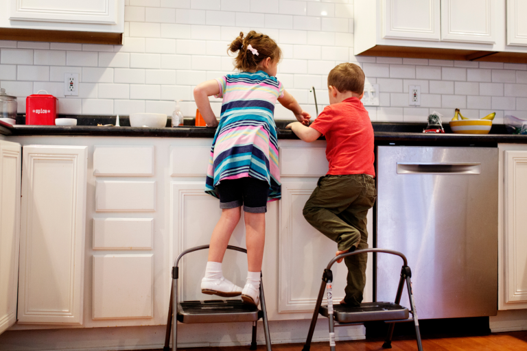
[[[290,177],[320,177],[329,164],[325,147],[280,147],[280,174]]]

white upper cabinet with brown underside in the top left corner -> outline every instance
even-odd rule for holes
[[[124,2],[0,1],[0,40],[121,44]]]

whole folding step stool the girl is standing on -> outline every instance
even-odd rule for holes
[[[271,351],[271,338],[267,320],[266,300],[264,298],[264,285],[260,274],[260,306],[244,304],[242,300],[204,300],[183,301],[178,303],[178,278],[179,261],[190,252],[208,249],[209,245],[192,247],[181,252],[172,267],[172,289],[170,290],[170,304],[168,308],[167,332],[165,334],[165,347],[163,351],[169,351],[170,332],[172,330],[172,351],[178,349],[178,323],[229,323],[229,322],[252,322],[253,338],[250,350],[256,350],[256,324],[261,318],[264,322],[264,334],[266,335],[267,351]],[[227,249],[247,253],[242,247],[227,246]],[[176,313],[173,313],[174,306]]]

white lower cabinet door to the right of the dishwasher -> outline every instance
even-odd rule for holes
[[[498,309],[527,308],[527,146],[498,147]]]

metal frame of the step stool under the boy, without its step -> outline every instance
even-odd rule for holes
[[[401,254],[401,252],[397,252],[394,250],[384,250],[384,249],[364,249],[364,250],[355,250],[353,252],[346,252],[345,254],[340,254],[329,261],[327,267],[324,269],[324,274],[322,276],[322,284],[320,285],[320,291],[318,292],[318,298],[316,299],[316,305],[315,305],[315,311],[313,312],[313,319],[311,320],[311,325],[309,326],[309,332],[307,334],[307,339],[305,341],[305,345],[302,349],[302,351],[309,351],[309,348],[311,347],[311,341],[313,338],[313,333],[316,326],[316,320],[318,319],[318,312],[320,311],[320,305],[322,304],[322,299],[324,296],[324,291],[327,289],[327,309],[329,314],[329,347],[331,351],[335,351],[335,327],[339,326],[354,326],[358,324],[362,324],[362,322],[357,323],[336,323],[333,321],[333,294],[331,292],[331,282],[333,281],[333,272],[331,271],[331,266],[333,266],[333,263],[336,263],[337,260],[340,258],[344,258],[347,256],[353,256],[356,254],[364,254],[367,252],[381,252],[384,254],[393,254],[395,256],[399,256],[403,259],[403,267],[401,268],[401,279],[399,280],[399,287],[397,287],[397,295],[395,295],[395,304],[399,304],[401,302],[401,295],[403,293],[403,285],[406,281],[406,289],[408,289],[408,298],[410,300],[410,313],[412,313],[412,318],[408,319],[396,319],[396,320],[387,320],[384,321],[385,323],[390,324],[390,327],[388,328],[388,335],[386,335],[386,341],[383,344],[383,348],[392,348],[392,337],[393,337],[393,328],[395,327],[395,323],[400,322],[414,322],[415,326],[415,336],[417,339],[417,348],[419,351],[423,351],[423,345],[421,343],[421,332],[419,332],[419,320],[417,319],[417,311],[415,308],[414,303],[414,295],[412,293],[412,282],[410,281],[410,278],[412,277],[412,271],[410,270],[410,267],[408,267],[408,261],[406,260],[406,256]]]

